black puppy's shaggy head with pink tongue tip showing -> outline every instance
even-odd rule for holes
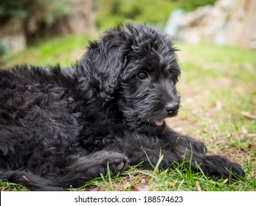
[[[131,129],[164,127],[180,98],[176,49],[151,26],[118,26],[91,42],[80,60],[83,75],[98,98],[114,102]]]

